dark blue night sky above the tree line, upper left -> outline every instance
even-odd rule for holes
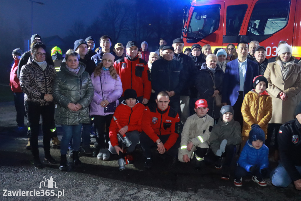
[[[33,3],[33,34],[39,33],[42,37],[67,35],[75,20],[91,22],[97,17],[103,1],[62,1],[36,0],[45,5]],[[121,1],[122,2],[122,1]],[[16,29],[19,26],[28,28],[31,34],[31,2],[28,0],[2,0],[0,3],[1,27]],[[17,27],[16,27],[17,24]]]

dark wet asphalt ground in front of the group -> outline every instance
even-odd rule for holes
[[[194,170],[193,161],[188,164],[177,161],[170,166],[171,159],[159,156],[155,150],[153,167],[145,170],[139,146],[133,153],[134,164],[126,165],[126,170],[120,172],[116,155],[111,155],[110,161],[97,160],[95,139],[91,143],[93,154],[81,153],[83,164],[80,167],[74,167],[67,156],[69,170],[63,172],[59,170],[60,149],[51,147],[51,155],[57,162],[49,164],[44,160],[42,136],[39,135],[39,155],[44,168],[37,169],[33,166],[31,152],[25,149],[26,131],[13,131],[15,115],[13,102],[0,103],[0,200],[301,200],[301,192],[295,190],[293,183],[279,188],[265,179],[268,185],[260,187],[251,177],[245,177],[243,186],[235,187],[235,161],[228,181],[220,179],[221,171],[214,166],[203,166],[199,172]],[[60,126],[57,131],[61,139]],[[270,166],[277,166],[272,158]],[[54,188],[41,185],[43,177],[46,180],[52,177]]]

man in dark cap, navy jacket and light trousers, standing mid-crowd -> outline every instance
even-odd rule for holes
[[[197,68],[190,56],[183,53],[184,41],[182,38],[173,40],[172,47],[175,48],[175,55],[173,58],[183,65],[183,72],[186,76],[185,86],[180,92],[180,107],[181,107],[181,122],[185,123],[186,119],[190,116],[189,112],[189,96],[191,95],[190,89],[194,86],[194,78],[197,74]]]

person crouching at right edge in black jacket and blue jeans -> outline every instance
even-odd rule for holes
[[[272,183],[287,187],[292,181],[301,190],[301,103],[296,107],[296,119],[284,123],[278,134],[280,161],[271,173]]]

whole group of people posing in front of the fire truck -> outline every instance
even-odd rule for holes
[[[68,150],[74,164],[81,164],[81,142],[83,151],[92,153],[94,123],[98,160],[118,154],[119,170],[134,161],[132,152],[140,142],[147,169],[152,167],[155,147],[159,154],[171,156],[171,164],[194,160],[197,171],[214,164],[228,180],[234,156],[240,153],[235,186],[241,186],[246,175],[266,186],[263,178],[271,175],[275,186],[287,187],[294,181],[301,190],[301,68],[285,41],[279,43],[275,61],[265,58],[266,49],[257,41],[242,41],[236,48],[228,44],[214,54],[209,44],[193,44],[188,55],[183,53],[182,38],[173,40],[172,46],[161,38],[156,52],[148,51],[146,41],[141,45],[129,41],[126,48],[116,43],[112,51],[109,36],[100,38],[100,48],[95,44],[93,37],[76,40],[63,59],[57,47],[47,53],[35,34],[30,51],[13,51],[10,83],[17,123],[24,127],[27,115],[35,167],[42,168],[38,149],[42,115],[49,163],[56,161],[50,155],[50,139],[53,145],[59,143],[55,124],[62,125],[62,171],[68,169]],[[58,59],[62,62],[55,62]],[[278,161],[280,155],[280,161],[271,173],[268,147],[274,130],[274,158]]]

